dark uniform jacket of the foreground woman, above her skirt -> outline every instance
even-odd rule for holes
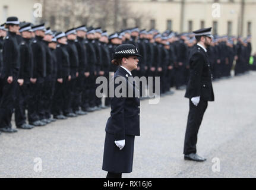
[[[115,140],[125,140],[125,135],[140,136],[140,98],[128,96],[128,88],[138,91],[137,85],[128,81],[130,75],[124,68],[119,67],[115,72],[115,80],[117,77],[124,77],[123,80],[127,84],[127,96],[111,98],[111,113],[106,124],[106,132],[115,135]],[[113,82],[113,78],[112,78]],[[115,89],[119,84],[115,84]]]

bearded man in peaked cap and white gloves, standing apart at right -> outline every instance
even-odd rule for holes
[[[204,162],[197,154],[197,134],[207,109],[208,101],[214,101],[210,62],[207,47],[213,36],[211,28],[194,31],[197,45],[189,55],[190,77],[185,97],[189,99],[189,114],[184,142],[184,159]]]

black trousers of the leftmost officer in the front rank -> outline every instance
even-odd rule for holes
[[[13,81],[11,84],[7,82],[5,77],[1,79],[1,99],[0,99],[0,128],[11,128],[11,116],[14,109],[17,89],[17,77],[12,76]]]

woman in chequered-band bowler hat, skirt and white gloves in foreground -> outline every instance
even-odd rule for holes
[[[111,116],[106,124],[102,169],[108,172],[107,178],[122,178],[122,173],[132,172],[134,137],[140,136],[140,97],[137,85],[129,77],[132,77],[131,71],[137,69],[137,57],[140,57],[137,48],[129,44],[116,47],[113,53],[112,64],[119,68],[110,82],[114,83],[115,94],[111,98]],[[121,81],[121,84],[115,84],[115,81]],[[119,85],[122,85],[122,96],[116,94]]]

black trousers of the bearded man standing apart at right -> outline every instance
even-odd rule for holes
[[[197,153],[197,134],[203,120],[204,112],[206,111],[208,102],[206,100],[200,100],[197,106],[195,106],[191,100],[189,100],[189,113],[187,130],[185,134],[184,142],[184,154]]]

